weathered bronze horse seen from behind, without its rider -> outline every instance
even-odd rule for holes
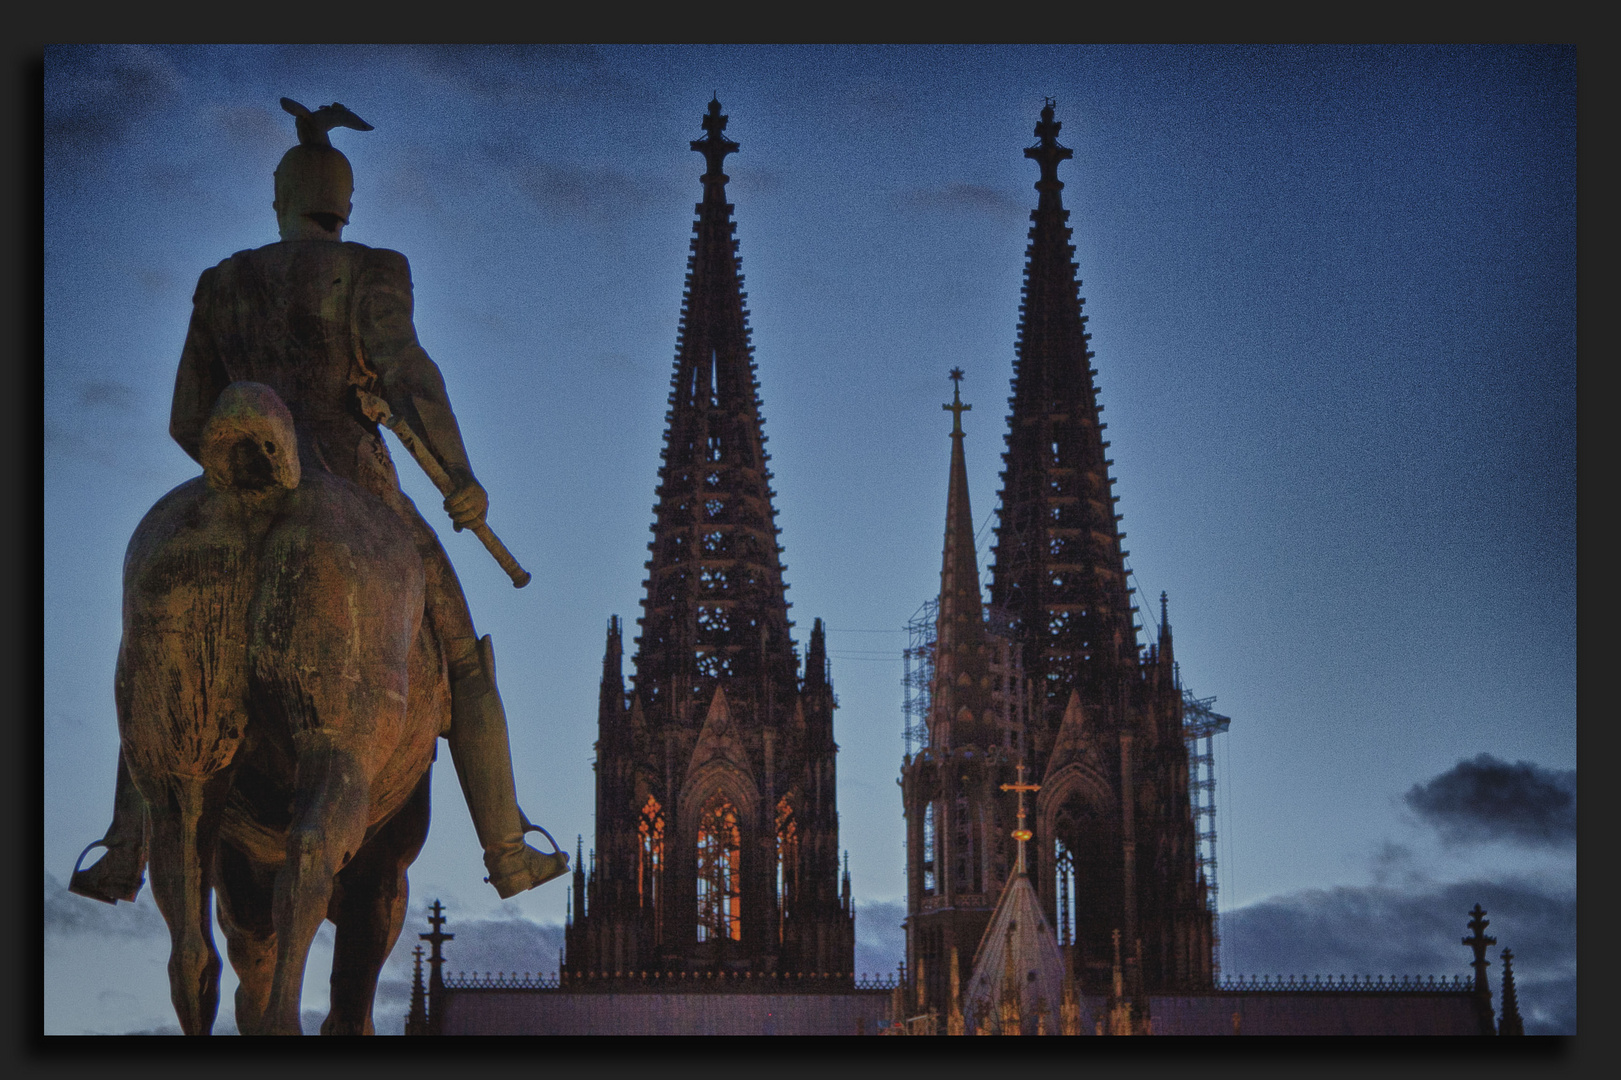
[[[305,963],[327,918],[321,1031],[370,1035],[451,725],[421,556],[374,495],[300,467],[293,418],[267,386],[232,383],[201,449],[203,475],[130,540],[115,684],[170,996],[183,1031],[212,1028],[217,895],[243,1035],[302,1031]]]

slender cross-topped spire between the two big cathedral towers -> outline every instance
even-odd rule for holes
[[[940,556],[940,610],[935,619],[935,709],[930,720],[937,744],[987,746],[982,731],[989,704],[986,615],[979,592],[979,555],[974,550],[974,511],[968,498],[968,461],[963,454],[963,370],[952,368],[952,474],[945,495],[945,550]]]

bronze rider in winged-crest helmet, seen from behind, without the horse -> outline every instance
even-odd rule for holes
[[[524,843],[528,824],[517,806],[506,710],[496,692],[490,637],[473,631],[467,598],[451,561],[412,501],[400,491],[378,425],[361,414],[357,389],[383,397],[404,417],[454,482],[444,509],[457,530],[483,521],[490,506],[473,478],[456,414],[438,365],[417,342],[405,256],[342,240],[353,174],[331,146],[332,126],[371,130],[342,105],[298,117],[298,146],[276,167],[280,242],[238,251],[203,271],[193,297],[169,431],[198,459],[199,436],[219,392],[235,381],[271,386],[287,404],[305,467],[326,467],[381,498],[410,530],[423,561],[425,621],[438,636],[451,678],[446,738],[490,884],[503,898],[567,869],[567,856]],[[138,793],[118,764],[109,851],[78,871],[73,892],[97,900],[133,900],[144,864]]]

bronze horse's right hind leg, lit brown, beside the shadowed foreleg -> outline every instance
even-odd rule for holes
[[[266,1004],[267,1031],[302,1035],[298,1022],[310,942],[326,919],[332,879],[360,850],[371,809],[361,748],[342,731],[293,736],[298,765],[287,861],[276,874],[276,976]]]

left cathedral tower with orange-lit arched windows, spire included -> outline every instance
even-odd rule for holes
[[[571,975],[815,973],[849,979],[833,688],[817,619],[799,671],[712,101],[647,598],[626,694],[608,624],[597,848],[575,876]]]

